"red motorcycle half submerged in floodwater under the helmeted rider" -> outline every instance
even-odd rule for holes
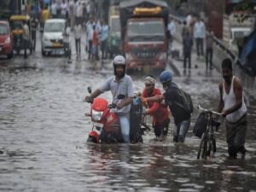
[[[87,89],[91,93],[90,87]],[[124,95],[119,95],[118,99],[124,99]],[[120,131],[119,118],[111,111],[116,108],[115,104],[108,104],[104,98],[96,97],[90,102],[90,116],[93,122],[92,129],[89,132],[87,143],[123,143]],[[131,102],[130,111],[130,140],[131,143],[143,143],[143,133],[150,130],[148,125],[142,122],[143,105],[138,96],[134,96]],[[144,127],[142,127],[142,125]]]

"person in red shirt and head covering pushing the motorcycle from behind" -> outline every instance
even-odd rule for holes
[[[161,91],[154,88],[155,79],[152,76],[147,76],[144,79],[145,89],[143,90],[143,97],[160,96]],[[168,126],[170,123],[169,112],[166,106],[160,102],[144,102],[143,106],[146,108],[144,115],[150,114],[153,117],[154,135],[160,141],[164,140],[168,133]]]

